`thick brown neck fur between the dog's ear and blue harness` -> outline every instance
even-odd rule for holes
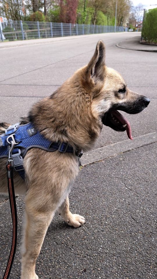
[[[92,93],[83,84],[80,69],[50,97],[33,105],[29,121],[51,142],[68,142],[87,151],[99,136],[102,121],[92,114]]]

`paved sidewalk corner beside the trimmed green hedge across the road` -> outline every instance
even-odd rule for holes
[[[157,46],[140,44],[141,35],[139,35],[139,33],[141,32],[136,33],[135,37],[117,43],[116,46],[124,49],[157,52]]]

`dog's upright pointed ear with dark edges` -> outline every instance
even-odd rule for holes
[[[105,66],[105,44],[103,41],[97,43],[94,55],[87,66],[88,78],[94,81],[104,80],[104,66]]]

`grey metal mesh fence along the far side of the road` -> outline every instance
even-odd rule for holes
[[[123,26],[116,27],[116,32],[123,31],[127,31]],[[115,26],[8,20],[0,25],[0,40],[3,42],[107,32],[115,32]]]

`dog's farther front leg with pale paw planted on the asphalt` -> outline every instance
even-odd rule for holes
[[[63,219],[69,226],[73,226],[74,228],[79,228],[81,225],[85,223],[84,217],[78,214],[72,214],[70,212],[68,196],[62,203],[62,205],[58,208],[58,213],[63,217]]]

